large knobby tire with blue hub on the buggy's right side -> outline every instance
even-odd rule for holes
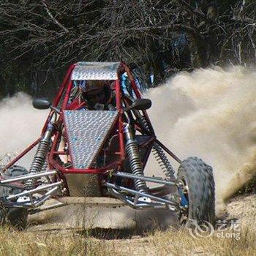
[[[189,157],[181,162],[177,180],[181,208],[179,219],[181,225],[191,221],[214,225],[215,220],[215,185],[211,166],[202,159]]]

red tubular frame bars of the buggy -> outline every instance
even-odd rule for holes
[[[127,72],[128,78],[131,82],[132,85],[132,89],[135,91],[135,95],[138,99],[140,99],[140,91],[138,90],[136,84],[135,84],[135,79],[132,76],[132,73],[129,71],[129,68],[127,67],[126,64],[121,63],[121,67],[124,68],[124,70]],[[57,121],[57,123],[61,124],[63,123],[63,110],[67,110],[69,109],[68,107],[68,100],[69,100],[69,94],[70,91],[72,89],[72,80],[71,80],[71,75],[72,75],[72,70],[75,68],[75,64],[72,64],[68,71],[67,74],[64,77],[63,82],[61,83],[61,88],[59,89],[58,94],[56,95],[56,98],[53,100],[53,106],[54,107],[58,107],[59,102],[61,97],[64,94],[65,89],[67,88],[65,97],[64,97],[64,102],[62,103],[61,106],[61,114],[59,116],[59,120]],[[102,167],[102,168],[98,168],[98,169],[75,169],[75,168],[65,168],[63,166],[61,166],[59,164],[59,162],[55,159],[56,155],[64,155],[65,152],[64,151],[58,151],[57,150],[57,146],[60,140],[61,136],[65,135],[61,135],[61,132],[57,131],[55,132],[55,134],[53,134],[54,138],[53,138],[53,145],[50,148],[50,152],[48,154],[48,165],[50,169],[56,169],[59,170],[61,173],[93,173],[93,174],[102,174],[107,172],[108,170],[110,170],[113,167],[118,167],[121,166],[121,163],[124,161],[125,159],[125,148],[124,148],[124,132],[123,132],[123,126],[124,126],[124,122],[123,122],[123,107],[121,105],[121,84],[120,84],[120,80],[119,78],[115,81],[115,90],[116,90],[116,108],[118,110],[118,140],[119,140],[119,151],[116,152],[116,154],[119,155],[119,159],[116,162],[111,163],[108,166]],[[78,104],[77,106],[74,106],[73,109],[78,109],[82,104]],[[45,125],[42,129],[42,135],[45,132],[45,129],[48,126],[48,121],[50,120],[50,118],[53,116],[53,110],[50,111],[47,120],[45,121]],[[146,118],[146,121],[149,124],[150,130],[151,130],[151,135],[152,138],[156,138],[155,134],[154,134],[154,129],[151,125],[151,121],[148,118],[148,113],[146,113],[146,110],[143,110],[143,115]],[[15,159],[12,160],[12,162],[10,162],[8,165],[6,165],[4,167],[4,170],[7,170],[8,168],[10,168],[12,165],[15,164],[15,162],[17,162],[21,157],[23,157],[25,154],[27,154],[32,148],[34,148],[34,146],[36,146],[41,138],[38,138],[34,143],[31,144],[31,146],[29,146],[28,148],[26,148],[21,154],[18,155],[18,157],[15,157]],[[158,142],[159,143],[159,142]],[[163,146],[163,145],[161,145]],[[166,149],[166,147],[165,147]],[[178,159],[178,157],[176,157],[172,152],[167,151],[167,153],[171,154],[171,156],[176,159],[178,162],[180,161]],[[67,154],[68,155],[68,154]]]

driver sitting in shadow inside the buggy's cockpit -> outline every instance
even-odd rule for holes
[[[86,81],[82,98],[92,110],[114,110],[113,91],[105,80]]]

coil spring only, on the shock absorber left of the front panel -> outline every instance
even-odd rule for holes
[[[46,163],[45,157],[46,157],[46,154],[48,153],[49,145],[50,143],[45,140],[41,140],[39,142],[37,153],[34,155],[34,159],[29,169],[29,173],[31,174],[38,173],[39,171],[42,170],[42,168],[45,167],[45,163]],[[36,181],[34,178],[29,178],[24,184],[24,189],[26,190],[32,189],[34,187],[35,182]]]

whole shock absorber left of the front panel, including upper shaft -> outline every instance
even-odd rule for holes
[[[37,147],[37,153],[34,155],[33,162],[29,169],[29,174],[38,173],[39,171],[42,171],[42,168],[45,165],[45,157],[49,151],[50,137],[52,135],[52,132],[53,132],[53,125],[49,123],[46,129],[45,135],[42,138],[42,140],[40,140],[39,145]],[[24,189],[25,190],[33,189],[34,184],[36,184],[36,182],[37,182],[37,179],[29,178],[24,184]]]

